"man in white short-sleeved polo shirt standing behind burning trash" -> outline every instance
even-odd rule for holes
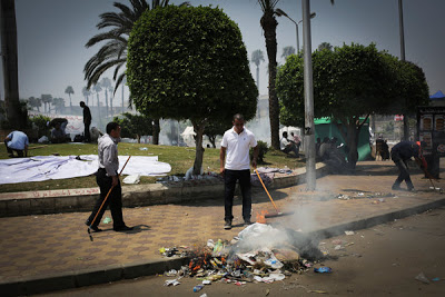
[[[234,206],[234,192],[236,181],[243,194],[243,219],[245,225],[250,224],[251,196],[250,196],[250,158],[249,149],[254,148],[251,166],[257,167],[258,146],[251,131],[244,128],[244,117],[240,113],[234,116],[234,127],[222,136],[221,150],[219,152],[220,174],[224,176],[225,186],[225,226],[231,229],[234,219],[231,209]],[[226,156],[227,155],[227,156]]]

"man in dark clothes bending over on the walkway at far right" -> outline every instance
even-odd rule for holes
[[[393,190],[399,190],[402,181],[406,181],[406,186],[408,187],[408,191],[414,190],[413,182],[411,181],[407,160],[412,157],[416,160],[421,168],[426,170],[426,161],[424,156],[422,155],[422,148],[425,147],[425,142],[414,142],[414,141],[400,141],[393,147],[390,150],[390,158],[394,164],[398,168],[398,177],[393,185]]]

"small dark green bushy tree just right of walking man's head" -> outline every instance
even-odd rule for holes
[[[115,117],[113,121],[121,127],[120,135],[122,137],[136,138],[140,143],[140,137],[144,135],[152,135],[152,119],[144,115],[132,115],[125,112]]]

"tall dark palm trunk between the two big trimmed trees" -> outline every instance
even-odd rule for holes
[[[279,0],[258,0],[263,10],[260,20],[269,60],[269,120],[271,147],[279,150],[279,107],[275,91],[275,79],[277,77],[277,19],[275,8]]]

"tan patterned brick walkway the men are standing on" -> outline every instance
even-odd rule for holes
[[[318,179],[314,192],[305,191],[306,185],[274,190],[271,196],[277,206],[281,210],[294,210],[295,215],[268,219],[268,222],[310,231],[444,199],[444,195],[429,189],[429,181],[422,179],[419,172],[413,176],[416,194],[390,191],[396,172],[389,161],[362,162],[356,176]],[[335,199],[340,192],[360,199]],[[375,198],[362,198],[359,192]],[[396,197],[380,201],[376,192],[393,192]],[[264,191],[255,194],[253,200],[254,219],[263,209],[273,211]],[[128,226],[136,226],[135,230],[115,232],[112,224],[101,224],[105,231],[93,234],[92,242],[83,225],[88,215],[0,218],[0,281],[162,259],[158,251],[160,247],[200,246],[209,238],[231,239],[244,228],[240,199],[236,199],[235,227],[229,231],[222,229],[221,199],[126,208],[125,220]],[[108,210],[105,217],[111,217]]]

